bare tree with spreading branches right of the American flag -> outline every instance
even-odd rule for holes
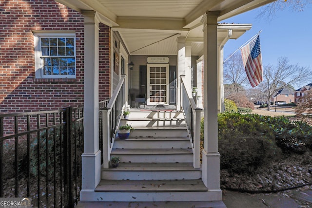
[[[312,71],[307,67],[301,67],[298,64],[289,64],[286,57],[280,57],[277,66],[268,65],[263,70],[263,90],[268,102],[268,111],[270,111],[270,100],[274,93],[288,85],[308,81],[312,77]]]

